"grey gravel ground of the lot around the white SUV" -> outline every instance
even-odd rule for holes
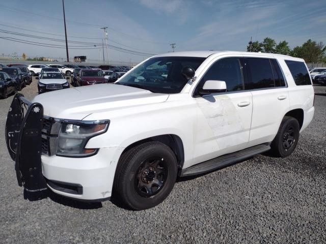
[[[326,242],[326,87],[315,116],[286,159],[262,155],[180,179],[160,205],[130,211],[111,201],[80,203],[45,192],[24,199],[4,126],[12,96],[0,100],[1,243]],[[32,99],[36,81],[22,93]]]

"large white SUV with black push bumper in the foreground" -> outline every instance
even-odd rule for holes
[[[303,59],[173,52],[145,60],[113,84],[32,102],[17,94],[6,141],[27,191],[49,188],[83,201],[114,192],[128,207],[146,209],[169,195],[177,177],[266,151],[289,156],[313,118],[313,102]],[[29,106],[23,121],[22,103]]]

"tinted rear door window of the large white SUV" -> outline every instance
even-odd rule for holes
[[[248,71],[248,81],[244,88],[261,89],[275,87],[273,71],[268,58],[245,58]]]

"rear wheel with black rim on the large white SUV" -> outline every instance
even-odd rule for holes
[[[295,149],[300,135],[297,119],[284,116],[276,137],[271,142],[270,153],[273,156],[285,158]]]

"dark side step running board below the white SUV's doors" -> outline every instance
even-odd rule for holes
[[[207,172],[225,167],[227,165],[234,164],[239,161],[248,159],[256,154],[264,153],[265,151],[268,151],[269,149],[270,149],[269,143],[265,143],[265,144],[260,144],[257,146],[252,146],[252,147],[240,150],[240,151],[236,151],[235,153],[232,153],[232,154],[226,154],[226,155],[220,156],[218,158],[214,158],[214,159],[196,164],[189,168],[183,169],[181,171],[181,177],[207,173]]]

